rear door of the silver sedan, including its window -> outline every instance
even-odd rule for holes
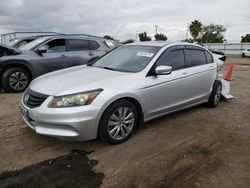
[[[212,55],[203,48],[186,46],[188,83],[192,103],[206,99],[216,78],[217,66]]]

